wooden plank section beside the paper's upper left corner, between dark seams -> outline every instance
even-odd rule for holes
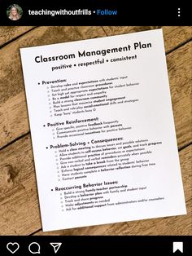
[[[20,47],[103,36],[101,27],[41,27],[0,50],[0,148],[29,130]]]

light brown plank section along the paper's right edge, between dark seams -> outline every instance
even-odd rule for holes
[[[191,67],[192,42],[167,56],[172,108],[176,125],[178,148],[192,142],[191,126]],[[177,54],[176,54],[177,53]]]

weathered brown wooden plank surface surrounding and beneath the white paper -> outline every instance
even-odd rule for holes
[[[107,37],[157,28],[159,27],[0,27],[0,235],[192,234],[192,27],[163,27],[187,215],[57,232],[41,230],[20,47]]]

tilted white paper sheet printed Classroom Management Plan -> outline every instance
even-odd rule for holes
[[[43,231],[186,214],[161,29],[20,54]]]

